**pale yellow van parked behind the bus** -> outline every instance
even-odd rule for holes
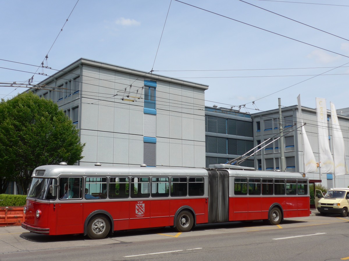
[[[334,188],[327,191],[325,196],[322,192],[316,190],[318,202],[318,211],[321,215],[327,213],[340,214],[342,217],[348,216],[349,209],[349,188]]]

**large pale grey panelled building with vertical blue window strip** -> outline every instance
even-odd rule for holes
[[[79,165],[205,167],[207,85],[84,58],[38,85],[79,129]]]

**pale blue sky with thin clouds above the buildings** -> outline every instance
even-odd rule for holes
[[[207,106],[255,113],[300,94],[349,107],[349,1],[291,1],[0,0],[0,82],[38,83],[83,57],[209,85]]]

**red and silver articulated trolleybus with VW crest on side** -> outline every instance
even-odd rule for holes
[[[22,227],[91,239],[117,230],[309,216],[305,174],[228,164],[204,168],[47,165],[36,168]]]

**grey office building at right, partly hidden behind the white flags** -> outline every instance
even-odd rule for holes
[[[339,109],[340,111],[343,109]],[[263,141],[273,137],[279,132],[279,110],[269,110],[266,112],[259,112],[252,114],[254,121],[254,144],[257,146]],[[317,128],[317,114],[316,110],[302,106],[302,119],[306,123],[305,131],[307,133],[311,148],[313,150],[315,160],[319,162],[319,149],[318,149],[318,128]],[[347,155],[349,154],[349,117],[338,114],[339,124],[342,129],[344,144]],[[329,126],[329,146],[331,152],[332,148],[332,125],[331,125],[331,112],[327,111],[327,121]],[[295,124],[295,125],[294,125]],[[282,125],[284,134],[284,157],[285,157],[285,171],[293,172],[304,172],[303,163],[303,143],[301,135],[301,126],[298,106],[290,106],[282,108]],[[288,128],[288,129],[287,129]],[[285,130],[287,129],[287,130]],[[279,136],[279,135],[278,135]],[[275,136],[275,140],[278,136]],[[263,147],[269,142],[262,144]],[[267,145],[256,156],[256,168],[260,170],[278,170],[280,169],[280,142],[276,140],[274,143]],[[349,157],[347,156],[347,159]],[[319,170],[319,168],[318,168]],[[308,173],[310,180],[316,181],[317,183],[321,180],[322,185],[328,188],[341,187],[347,188],[349,185],[349,175],[334,176],[332,173]]]

